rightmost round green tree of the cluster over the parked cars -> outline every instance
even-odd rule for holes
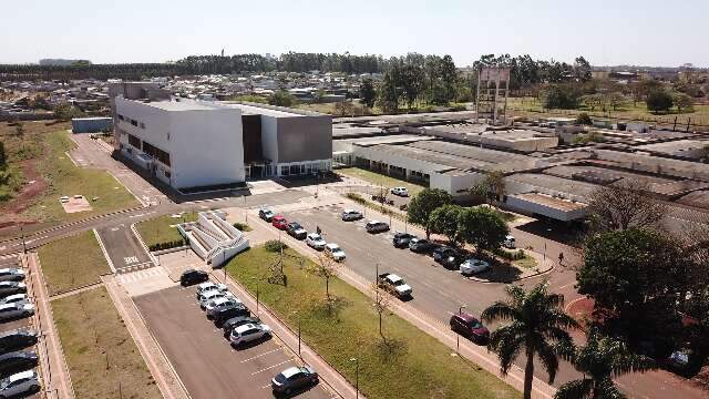
[[[499,248],[510,234],[510,228],[499,212],[477,206],[461,213],[460,235],[466,243],[475,245],[477,253]]]

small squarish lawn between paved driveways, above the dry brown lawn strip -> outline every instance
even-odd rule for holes
[[[111,273],[92,231],[47,244],[39,256],[50,295],[99,283]]]

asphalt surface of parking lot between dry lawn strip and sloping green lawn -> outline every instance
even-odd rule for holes
[[[233,349],[199,308],[195,289],[176,286],[134,298],[192,398],[273,398],[270,379],[297,366],[297,357],[277,337]],[[297,397],[331,395],[321,382]]]

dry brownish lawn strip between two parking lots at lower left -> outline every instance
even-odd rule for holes
[[[76,398],[162,398],[109,293],[52,301]]]

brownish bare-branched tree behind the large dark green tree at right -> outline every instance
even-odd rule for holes
[[[645,195],[646,187],[635,181],[623,181],[594,191],[588,214],[596,231],[659,226],[667,206]]]

